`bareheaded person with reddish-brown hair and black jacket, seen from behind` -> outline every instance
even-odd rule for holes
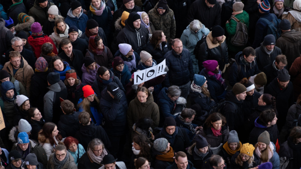
[[[95,125],[93,122],[91,122],[92,120],[88,112],[83,111],[79,113],[78,119],[81,125],[79,126],[79,131],[77,131],[75,134],[75,138],[86,151],[89,142],[94,138],[100,139],[105,144],[106,148],[111,147],[111,142],[106,131],[102,126]]]

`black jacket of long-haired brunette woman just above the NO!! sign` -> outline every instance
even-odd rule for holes
[[[157,64],[159,64],[164,60],[164,55],[169,51],[168,45],[168,42],[162,42],[163,50],[161,50],[160,48],[155,48],[154,44],[149,43],[146,48],[144,48],[144,51],[153,56],[153,59],[155,59]]]

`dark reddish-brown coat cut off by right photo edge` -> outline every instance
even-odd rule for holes
[[[290,75],[294,79],[295,98],[301,93],[301,56],[297,57],[290,68]]]

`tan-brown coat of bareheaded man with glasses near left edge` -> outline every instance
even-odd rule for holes
[[[22,63],[23,62],[23,63]],[[10,61],[7,61],[3,70],[6,70],[9,74],[11,74],[16,80],[22,83],[22,85],[26,89],[27,97],[30,97],[30,84],[31,84],[31,76],[34,74],[32,67],[27,63],[27,61],[22,57],[22,62],[20,68],[13,75],[13,68]],[[22,66],[23,64],[23,66]]]

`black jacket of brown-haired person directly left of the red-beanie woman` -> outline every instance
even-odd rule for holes
[[[80,112],[74,112],[72,114],[63,114],[60,116],[60,121],[58,122],[58,130],[62,138],[75,136],[76,131],[79,130],[79,120],[78,115]]]

